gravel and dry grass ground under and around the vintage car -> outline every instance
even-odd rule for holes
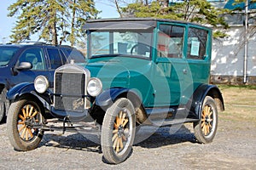
[[[220,88],[226,111],[219,113],[211,144],[195,142],[192,124],[162,127],[135,144],[125,162],[108,165],[102,161],[99,144],[80,133],[47,132],[38,149],[15,151],[3,123],[0,169],[256,169],[256,88]],[[143,127],[139,134],[150,131]]]

